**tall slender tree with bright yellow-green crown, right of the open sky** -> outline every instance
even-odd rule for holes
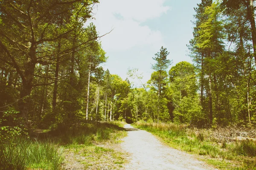
[[[215,59],[224,51],[223,45],[223,21],[221,20],[221,8],[218,3],[212,3],[206,7],[204,14],[207,15],[207,20],[199,26],[198,36],[196,37],[196,46],[201,51],[204,51],[204,64],[206,66],[205,73],[208,76],[207,95],[209,98],[209,125],[212,125],[213,110],[212,110],[212,88],[215,88],[215,108],[219,113],[219,94],[215,75]]]

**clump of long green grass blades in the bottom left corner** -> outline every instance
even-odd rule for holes
[[[59,170],[62,161],[61,149],[50,141],[32,141],[19,136],[0,144],[0,170]]]

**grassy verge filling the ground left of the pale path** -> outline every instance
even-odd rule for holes
[[[108,161],[109,158],[116,164],[123,163],[122,153],[97,146],[102,143],[119,143],[126,134],[121,122],[87,122],[72,128],[59,127],[54,131],[42,132],[47,135],[29,139],[16,132],[12,137],[6,138],[0,131],[0,170],[60,170],[63,168],[62,164],[69,161],[64,160],[64,152],[75,155],[75,160],[72,161],[80,161],[81,164],[86,164],[85,167],[93,166],[90,161]],[[85,153],[89,155],[84,156]],[[105,157],[106,153],[108,157]],[[83,157],[82,161],[80,157]]]

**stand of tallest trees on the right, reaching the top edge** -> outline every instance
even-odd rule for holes
[[[202,113],[209,120],[204,124],[227,126],[254,119],[255,9],[251,2],[202,0],[195,8],[194,38],[188,47],[199,80]]]

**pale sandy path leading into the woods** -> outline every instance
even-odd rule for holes
[[[126,170],[216,170],[188,153],[162,144],[145,130],[125,125],[128,136],[123,139],[122,149],[131,153]]]

